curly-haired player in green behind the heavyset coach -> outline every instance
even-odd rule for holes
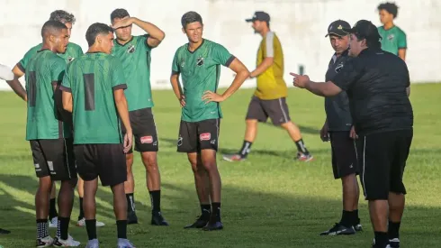
[[[398,6],[393,3],[378,5],[380,21],[383,26],[378,27],[378,32],[382,36],[382,50],[398,55],[402,60],[406,60],[407,40],[406,33],[401,28],[395,26],[393,20],[397,18]]]

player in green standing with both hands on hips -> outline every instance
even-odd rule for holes
[[[187,153],[202,210],[202,215],[185,228],[220,230],[223,228],[220,222],[221,182],[216,165],[222,117],[220,102],[238,90],[249,77],[249,71],[222,45],[202,38],[200,14],[185,13],[181,24],[188,43],[175,52],[170,78],[182,107],[177,152]],[[223,94],[217,93],[220,66],[228,67],[236,73],[231,86]],[[184,90],[180,87],[179,75]]]

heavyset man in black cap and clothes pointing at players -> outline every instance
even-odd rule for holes
[[[344,31],[351,33],[349,55],[356,58],[326,83],[291,73],[293,83],[319,96],[347,91],[356,133],[363,143],[360,174],[375,232],[373,247],[400,247],[406,194],[402,178],[413,138],[409,70],[399,57],[381,50],[381,37],[373,23],[361,20]]]

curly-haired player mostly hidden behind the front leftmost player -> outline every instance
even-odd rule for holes
[[[56,10],[52,12],[49,16],[49,21],[58,21],[60,23],[64,23],[67,26],[67,32],[70,37],[70,34],[72,32],[72,26],[76,22],[76,18],[73,14],[69,14],[64,10]],[[8,84],[14,89],[14,92],[22,97],[24,100],[26,100],[26,91],[24,91],[22,85],[18,81],[19,78],[22,78],[27,64],[31,57],[37,53],[37,51],[40,51],[42,46],[42,43],[32,47],[29,51],[27,51],[23,59],[20,60],[14,67],[14,80],[8,81]],[[61,57],[63,60],[66,61],[66,63],[75,60],[79,56],[83,55],[83,50],[79,45],[77,45],[74,42],[69,42],[67,44],[67,50],[64,53],[58,53],[58,56]],[[84,182],[82,179],[78,179],[78,185],[76,189],[78,190],[78,196],[79,196],[79,216],[78,221],[76,225],[78,226],[85,226],[85,218],[84,218],[84,211],[83,211],[83,196],[84,196]],[[50,204],[49,204],[49,227],[57,227],[57,208],[56,208],[56,200],[55,200],[55,192],[56,192],[56,186],[52,187],[52,192],[50,193]],[[96,222],[97,226],[103,226],[104,224],[102,222]]]

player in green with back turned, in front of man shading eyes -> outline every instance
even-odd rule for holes
[[[89,50],[67,65],[61,86],[63,108],[73,114],[76,169],[85,181],[85,228],[89,238],[85,247],[99,246],[95,219],[99,177],[103,186],[112,188],[117,247],[130,248],[133,245],[127,240],[124,153],[131,147],[132,133],[124,96],[126,80],[121,61],[110,54],[112,28],[94,23],[85,32],[85,38]],[[127,130],[124,137],[120,118]]]

